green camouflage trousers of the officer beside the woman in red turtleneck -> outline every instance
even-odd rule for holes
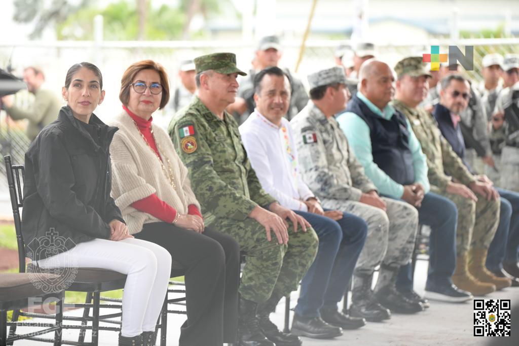
[[[239,292],[247,300],[265,302],[270,296],[283,297],[297,289],[299,282],[316,258],[319,239],[313,228],[294,232],[289,222],[289,242],[280,245],[271,232],[267,241],[265,228],[256,220],[217,218],[210,225],[233,237],[245,252],[245,267]]]

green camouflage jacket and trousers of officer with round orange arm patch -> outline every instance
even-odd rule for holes
[[[172,119],[168,131],[188,168],[206,224],[233,236],[247,253],[241,296],[264,302],[297,289],[317,254],[317,235],[311,228],[294,233],[289,227],[289,244],[280,245],[274,235],[268,242],[265,228],[248,218],[254,207],[267,208],[275,199],[262,189],[235,119],[225,112],[221,120],[195,96]]]

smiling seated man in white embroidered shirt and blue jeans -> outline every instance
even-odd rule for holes
[[[254,78],[256,109],[239,128],[247,155],[262,187],[279,203],[303,216],[319,236],[319,250],[301,284],[292,334],[333,338],[342,329],[362,327],[363,318],[337,310],[366,238],[367,224],[357,216],[321,207],[304,183],[289,122],[288,76],[277,67]],[[308,138],[308,140],[312,140]]]

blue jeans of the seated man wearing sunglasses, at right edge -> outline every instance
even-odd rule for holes
[[[499,226],[490,247],[486,267],[491,271],[503,268],[503,261],[517,263],[519,260],[519,193],[496,188],[501,196]]]

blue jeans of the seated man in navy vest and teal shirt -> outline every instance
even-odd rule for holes
[[[450,277],[456,269],[456,204],[433,192],[426,193],[418,208],[418,220],[431,228],[427,283],[440,286],[452,284]],[[400,267],[397,278],[399,290],[413,289],[411,269],[411,263]]]

